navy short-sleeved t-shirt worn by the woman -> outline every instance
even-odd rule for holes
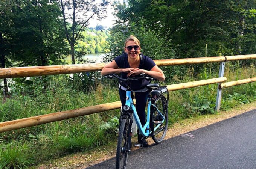
[[[143,54],[141,54],[141,56],[142,56],[142,59],[140,60],[139,69],[144,69],[144,70],[150,71],[155,66],[155,62],[152,59],[150,59],[148,56],[144,56]],[[122,54],[120,56],[117,56],[114,60],[116,61],[116,64],[119,66],[119,68],[130,68],[130,65],[128,62],[128,55],[126,53]],[[127,74],[128,73],[122,72],[121,78],[128,78]],[[132,77],[132,76],[130,76],[130,77]],[[134,77],[139,77],[139,75],[134,76]],[[130,88],[132,90],[139,90],[139,89],[142,89],[144,86],[146,86],[149,83],[150,83],[150,81],[148,81],[146,79],[132,81]],[[121,84],[121,85],[123,87],[126,87],[126,85],[124,85],[124,84]]]

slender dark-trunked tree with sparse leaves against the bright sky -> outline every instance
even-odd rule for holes
[[[72,64],[75,64],[74,47],[78,43],[78,39],[82,38],[81,32],[88,26],[88,21],[95,15],[100,20],[106,18],[104,13],[109,2],[102,0],[97,4],[95,0],[67,0],[63,3],[63,0],[60,0],[60,3],[65,34],[70,45]],[[72,10],[72,14],[69,13],[70,10]],[[71,21],[70,27],[67,24],[68,20]]]

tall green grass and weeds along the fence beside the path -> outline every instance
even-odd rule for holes
[[[206,68],[204,67],[204,70]],[[95,74],[94,76],[96,76]],[[229,81],[256,77],[254,65],[239,68],[226,64]],[[168,84],[218,77],[218,73],[195,73],[187,69],[183,77],[167,76]],[[0,105],[0,122],[47,113],[76,109],[119,100],[113,81],[105,79],[88,83],[88,79],[70,80],[66,75],[15,79],[12,97]],[[113,87],[114,86],[114,87]],[[169,124],[206,113],[215,113],[217,84],[169,92]],[[221,109],[256,100],[256,84],[249,83],[222,90]],[[35,127],[0,133],[0,168],[26,168],[50,158],[74,152],[86,152],[116,140],[115,129],[100,127],[114,122],[119,110],[97,113]],[[117,125],[114,125],[117,126]]]

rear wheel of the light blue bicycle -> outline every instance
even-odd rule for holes
[[[151,107],[150,112],[150,121],[151,121],[151,137],[154,140],[155,143],[160,143],[163,141],[166,135],[166,131],[168,128],[168,104],[165,98],[157,97],[157,99],[154,101],[154,105],[157,107],[157,109],[163,114],[165,117],[165,121],[157,128],[157,130],[154,131],[154,128],[159,124],[159,117],[161,117],[155,109],[155,107]]]

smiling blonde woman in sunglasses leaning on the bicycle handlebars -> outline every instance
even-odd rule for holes
[[[101,75],[107,75],[111,73],[121,73],[121,78],[127,78],[145,73],[157,80],[165,80],[163,71],[155,65],[154,61],[148,56],[144,56],[140,53],[140,41],[135,36],[129,36],[125,41],[125,54],[117,56],[111,63],[105,65],[101,71]],[[132,90],[141,90],[142,92],[135,93],[136,99],[136,111],[139,115],[142,125],[145,125],[145,106],[148,98],[149,91],[144,90],[145,86],[150,81],[141,79],[133,81],[131,84]],[[145,91],[145,92],[143,92]],[[125,105],[126,88],[119,85],[119,95],[122,102],[122,106]],[[145,137],[138,133],[138,142],[143,147],[148,146]]]

